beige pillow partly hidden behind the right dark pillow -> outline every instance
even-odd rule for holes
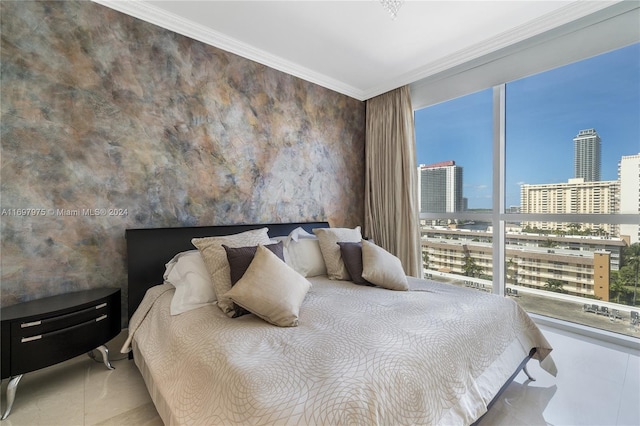
[[[358,243],[362,240],[360,227],[350,228],[316,228],[313,233],[320,242],[320,251],[327,266],[327,275],[332,280],[351,280],[340,254],[338,242]]]

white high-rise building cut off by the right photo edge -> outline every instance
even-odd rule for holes
[[[618,163],[620,213],[640,213],[640,154],[625,155]],[[640,220],[639,220],[640,222]],[[640,223],[620,225],[620,237],[629,244],[640,242]]]

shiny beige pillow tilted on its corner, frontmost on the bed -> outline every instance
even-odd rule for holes
[[[258,246],[247,271],[225,297],[271,324],[295,327],[310,288],[306,278],[269,249]]]

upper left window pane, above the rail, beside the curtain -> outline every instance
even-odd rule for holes
[[[415,112],[421,213],[491,210],[492,93]]]

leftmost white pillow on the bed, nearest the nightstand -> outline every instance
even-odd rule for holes
[[[164,280],[176,288],[171,299],[171,315],[216,302],[209,271],[198,250],[182,252],[171,259]]]

